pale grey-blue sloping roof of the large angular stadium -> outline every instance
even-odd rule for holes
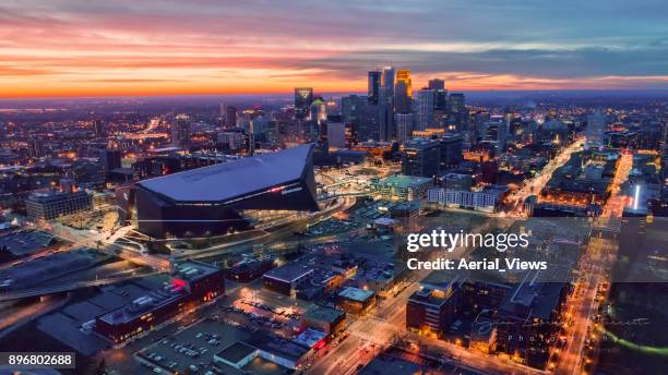
[[[223,202],[298,180],[313,145],[191,169],[139,184],[179,202]]]

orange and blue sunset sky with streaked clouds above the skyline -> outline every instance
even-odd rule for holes
[[[0,97],[668,88],[665,0],[0,2]]]

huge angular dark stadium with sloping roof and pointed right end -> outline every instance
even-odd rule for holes
[[[303,145],[141,181],[138,229],[159,239],[219,235],[262,216],[317,211],[312,155]]]

